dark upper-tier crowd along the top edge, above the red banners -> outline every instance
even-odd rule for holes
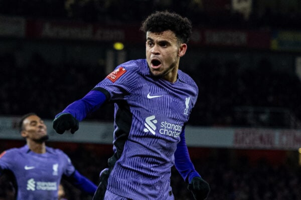
[[[273,2],[252,0],[245,17],[231,0],[0,0],[0,14],[112,24],[140,23],[154,10],[170,9],[200,26],[301,29],[297,1]]]

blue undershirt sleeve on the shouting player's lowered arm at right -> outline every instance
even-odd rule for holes
[[[175,166],[183,179],[186,182],[190,182],[193,177],[201,177],[201,175],[195,170],[195,167],[190,159],[185,140],[185,128],[183,128],[180,137],[181,140],[178,143],[175,151]]]

